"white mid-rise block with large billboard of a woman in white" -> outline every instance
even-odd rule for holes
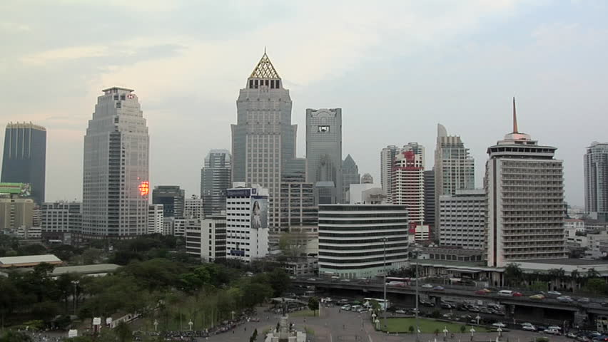
[[[226,192],[226,258],[250,262],[268,255],[268,190],[235,182]]]

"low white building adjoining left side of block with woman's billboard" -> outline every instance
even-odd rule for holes
[[[206,262],[226,259],[226,216],[186,219],[186,253]]]

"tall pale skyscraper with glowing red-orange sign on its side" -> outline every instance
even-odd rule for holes
[[[128,237],[148,230],[150,138],[133,89],[97,98],[84,136],[82,234]]]

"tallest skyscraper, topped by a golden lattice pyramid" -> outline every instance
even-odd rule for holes
[[[269,225],[278,224],[280,181],[285,163],[295,157],[289,90],[264,53],[236,101],[232,130],[232,180],[268,189]]]

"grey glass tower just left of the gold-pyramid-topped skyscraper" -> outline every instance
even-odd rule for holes
[[[226,189],[230,186],[230,152],[209,151],[201,169],[201,198],[206,215],[226,210]]]

